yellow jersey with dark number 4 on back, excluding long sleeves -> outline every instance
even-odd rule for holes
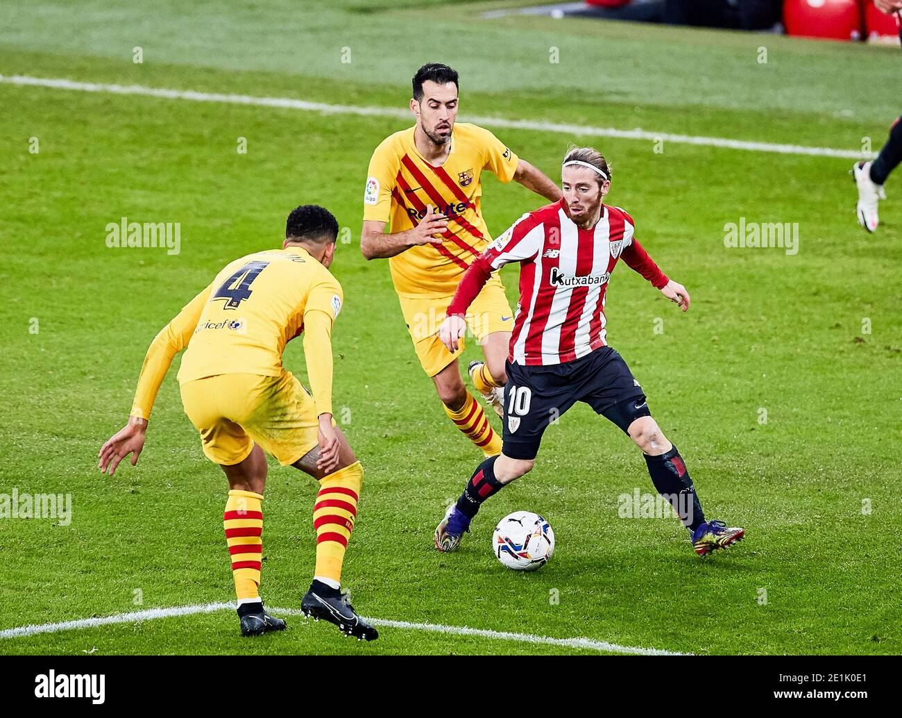
[[[202,304],[181,383],[215,374],[279,376],[282,351],[303,331],[305,314],[324,312],[332,322],[343,301],[336,278],[302,247],[235,259],[204,294],[196,299]]]

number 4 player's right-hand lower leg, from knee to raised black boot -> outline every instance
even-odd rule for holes
[[[313,507],[313,527],[317,532],[317,567],[308,592],[300,601],[308,618],[334,623],[345,636],[373,640],[379,632],[354,611],[348,594],[341,592],[341,571],[347,542],[354,529],[357,501],[364,480],[364,467],[357,461],[345,434],[333,427],[338,439],[338,464],[334,471],[320,468],[321,450],[313,447],[291,464],[319,481]]]

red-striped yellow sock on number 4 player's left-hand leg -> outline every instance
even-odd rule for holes
[[[233,489],[228,492],[223,526],[232,557],[232,576],[238,600],[259,598],[260,562],[263,552],[261,494]]]

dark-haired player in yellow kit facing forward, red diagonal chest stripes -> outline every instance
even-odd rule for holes
[[[387,137],[370,160],[360,247],[367,259],[388,257],[420,365],[435,382],[448,417],[493,456],[501,452],[501,439],[466,390],[455,354],[438,340],[438,327],[466,268],[492,241],[481,207],[483,170],[549,201],[559,200],[561,192],[488,130],[455,124],[457,73],[446,65],[417,71],[410,111],[417,124]],[[512,317],[501,278],[492,275],[466,318],[485,355],[484,362],[470,364],[470,377],[499,415]]]

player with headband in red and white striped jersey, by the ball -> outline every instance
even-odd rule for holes
[[[523,215],[467,269],[439,338],[452,352],[464,316],[493,272],[520,263],[517,307],[506,365],[503,448],[474,471],[436,529],[436,546],[453,551],[485,499],[530,471],[546,427],[582,401],[617,424],[642,450],[651,480],[707,555],[741,540],[744,529],[706,521],[686,463],[651,417],[642,387],[607,345],[604,303],[619,260],[686,312],[686,287],[667,278],[635,238],[635,223],[605,205],[611,169],[591,147],[573,147],[562,166],[564,197]]]

